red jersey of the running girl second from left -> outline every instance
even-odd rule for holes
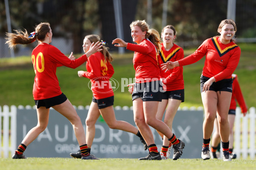
[[[88,58],[86,70],[83,77],[90,79],[95,99],[104,99],[114,95],[109,82],[114,74],[114,69],[101,52],[96,52]]]

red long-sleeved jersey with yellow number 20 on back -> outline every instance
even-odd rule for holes
[[[77,68],[87,61],[86,55],[76,60],[70,60],[58,48],[47,43],[41,43],[32,51],[32,63],[35,70],[33,96],[35,100],[48,99],[61,95],[61,88],[56,76],[59,66]]]

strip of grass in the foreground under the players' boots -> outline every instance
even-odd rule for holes
[[[210,159],[172,159],[139,161],[137,159],[80,160],[69,158],[29,158],[13,160],[0,158],[0,170],[255,170],[256,161]]]

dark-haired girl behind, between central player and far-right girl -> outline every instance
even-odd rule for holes
[[[168,61],[174,62],[184,58],[183,49],[173,43],[176,39],[176,35],[177,31],[174,26],[168,25],[163,28],[161,34],[163,43],[161,43],[161,50],[158,54],[159,65]],[[160,77],[165,85],[164,87],[166,87],[166,92],[163,93],[162,102],[159,102],[157,119],[162,120],[163,114],[166,111],[164,122],[172,130],[172,122],[175,114],[180,103],[184,102],[183,67],[176,67],[167,72],[162,70],[160,73]],[[160,155],[162,159],[169,159],[172,143],[170,143],[162,133],[160,133],[160,136],[163,138],[163,146],[161,147]]]

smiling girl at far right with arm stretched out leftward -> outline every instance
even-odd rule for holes
[[[223,160],[231,161],[229,154],[228,111],[232,96],[232,74],[235,71],[241,49],[232,39],[236,33],[233,20],[222,20],[218,27],[220,35],[205,40],[191,55],[175,62],[162,64],[163,70],[189,65],[205,56],[201,75],[201,97],[204,105],[202,159],[210,159],[209,142],[217,114],[219,133],[223,148]]]

